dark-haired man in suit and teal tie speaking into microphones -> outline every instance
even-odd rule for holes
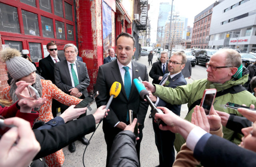
[[[136,151],[140,159],[140,142],[142,140],[142,129],[144,119],[148,110],[148,103],[145,102],[134,85],[133,79],[141,77],[143,81],[148,81],[148,73],[145,65],[132,61],[135,39],[128,33],[121,33],[117,37],[116,55],[117,60],[103,64],[99,67],[95,91],[100,95],[96,98],[97,106],[106,105],[110,98],[110,87],[114,82],[121,83],[121,92],[113,99],[108,112],[108,117],[103,119],[102,129],[107,144],[107,163],[114,137],[124,130],[129,124],[128,110],[131,109],[137,114],[138,128],[140,130]]]

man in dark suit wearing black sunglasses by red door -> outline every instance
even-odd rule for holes
[[[49,42],[46,45],[47,51],[50,53],[46,58],[43,58],[39,60],[39,68],[41,68],[42,72],[41,75],[44,77],[46,80],[52,81],[52,83],[55,84],[55,79],[54,79],[54,64],[56,62],[60,62],[64,60],[64,58],[61,58],[57,56],[58,54],[58,49],[57,46],[54,42]],[[53,117],[56,117],[58,111],[58,107],[60,107],[60,102],[58,102],[55,99],[52,99],[52,115]]]

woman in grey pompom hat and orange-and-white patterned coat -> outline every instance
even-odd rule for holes
[[[0,52],[0,59],[6,63],[6,67],[10,76],[13,78],[10,86],[4,88],[4,99],[15,103],[18,98],[15,94],[17,88],[16,82],[25,81],[32,83],[32,86],[37,89],[40,97],[46,97],[46,103],[40,108],[34,109],[39,111],[37,121],[47,122],[53,119],[52,116],[52,99],[56,99],[65,105],[77,105],[82,99],[68,95],[61,91],[50,80],[42,80],[36,74],[36,67],[28,60],[22,58],[21,53],[12,48],[6,48]],[[62,149],[45,157],[48,166],[61,166],[64,162],[64,154]]]

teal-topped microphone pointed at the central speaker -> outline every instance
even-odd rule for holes
[[[137,90],[140,94],[140,97],[142,99],[146,99],[147,102],[149,103],[149,105],[152,109],[152,112],[151,112],[152,117],[155,119],[155,114],[156,113],[163,113],[163,111],[161,109],[156,108],[154,103],[150,100],[150,98],[148,97],[149,93],[148,93],[147,89],[144,87],[144,85],[137,78],[135,78],[133,80],[133,82],[134,82],[134,85],[135,85],[135,87],[137,88]],[[160,125],[160,124],[162,124],[163,126],[166,125],[161,119],[156,119],[156,123],[158,125]]]

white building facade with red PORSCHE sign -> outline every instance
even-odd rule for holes
[[[224,0],[216,5],[208,48],[256,50],[256,0]]]

